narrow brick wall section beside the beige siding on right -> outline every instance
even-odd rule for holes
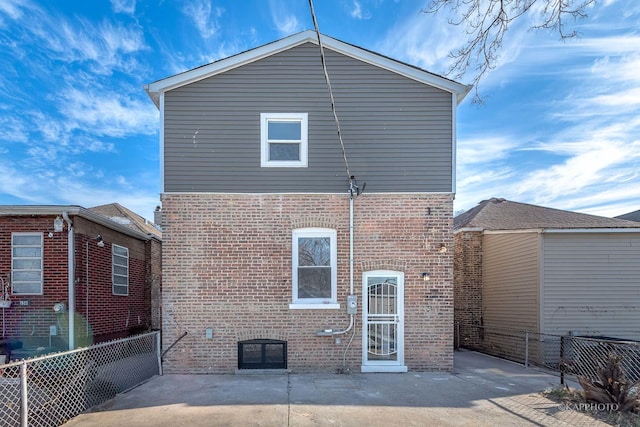
[[[477,348],[482,325],[482,232],[458,232],[454,245],[454,320],[459,325],[454,339],[461,347]]]

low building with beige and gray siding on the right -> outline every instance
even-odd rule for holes
[[[640,339],[638,223],[494,198],[454,224],[462,346],[480,326]]]

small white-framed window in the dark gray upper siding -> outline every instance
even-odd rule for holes
[[[260,114],[260,166],[307,167],[307,113]]]

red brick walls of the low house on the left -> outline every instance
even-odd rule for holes
[[[0,276],[11,272],[13,232],[43,234],[43,294],[11,295],[12,306],[4,310],[5,337],[23,342],[25,348],[51,344],[68,348],[68,313],[56,314],[55,303],[69,303],[68,228],[53,232],[55,216],[0,216]],[[81,217],[72,217],[75,233],[75,344],[126,336],[151,324],[150,283],[147,278],[145,242],[110,230]],[[104,238],[104,247],[96,236]],[[112,244],[129,249],[129,295],[112,293]],[[157,254],[159,264],[160,254]],[[22,305],[24,304],[24,305]],[[57,335],[50,337],[50,326]],[[87,328],[88,326],[88,328]]]

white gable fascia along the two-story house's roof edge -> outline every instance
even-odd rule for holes
[[[334,52],[342,53],[344,55],[369,63],[379,68],[383,68],[396,74],[403,75],[418,82],[454,93],[456,95],[458,104],[462,102],[464,97],[472,88],[472,86],[454,82],[453,80],[437,76],[419,68],[412,67],[408,64],[398,62],[396,60],[341,42],[325,35],[321,35],[320,39],[322,41],[323,47],[326,47],[327,49],[330,49]],[[266,58],[268,56],[307,42],[318,44],[318,37],[315,31],[303,31],[301,33],[297,33],[292,36],[277,40],[275,42],[251,50],[247,50],[237,55],[212,62],[211,64],[194,68],[192,70],[185,71],[183,73],[176,74],[162,80],[157,80],[153,83],[145,85],[144,89],[147,91],[147,94],[149,94],[154,104],[159,107],[160,93],[164,93],[172,89],[197,82],[216,74],[224,73],[225,71],[229,71],[242,65],[258,61],[262,58]]]

